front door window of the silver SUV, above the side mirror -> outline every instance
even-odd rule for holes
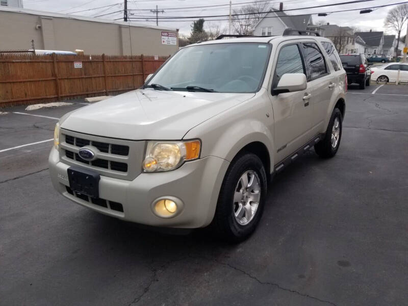
[[[279,51],[275,69],[276,84],[285,73],[304,73],[297,45],[285,46]]]

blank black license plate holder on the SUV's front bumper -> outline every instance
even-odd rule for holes
[[[99,173],[77,166],[68,168],[69,187],[76,192],[99,197]]]

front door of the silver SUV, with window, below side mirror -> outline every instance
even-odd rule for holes
[[[278,46],[271,89],[285,73],[305,73],[299,46],[283,43]],[[282,161],[306,143],[312,127],[312,88],[273,95],[270,91],[274,116],[275,163]]]

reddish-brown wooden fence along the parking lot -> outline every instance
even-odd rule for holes
[[[0,54],[0,108],[133,90],[167,59]]]

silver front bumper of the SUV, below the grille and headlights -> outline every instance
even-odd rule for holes
[[[224,159],[209,156],[185,163],[169,172],[141,173],[133,181],[100,175],[99,197],[121,203],[123,212],[94,205],[68,193],[67,169],[59,152],[52,148],[49,172],[54,187],[63,196],[97,212],[141,224],[196,228],[212,221],[226,169]],[[173,218],[161,218],[152,212],[152,202],[162,196],[174,196],[183,202],[183,211]]]

